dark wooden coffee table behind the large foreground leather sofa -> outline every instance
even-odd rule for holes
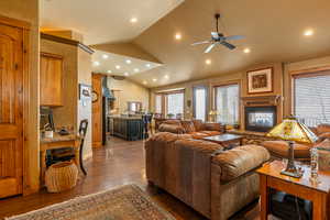
[[[222,145],[226,150],[234,147],[234,144],[242,145],[243,136],[237,134],[220,134],[215,136],[204,138],[205,141],[210,141]]]

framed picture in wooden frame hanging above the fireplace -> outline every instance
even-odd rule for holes
[[[248,72],[248,94],[273,91],[273,68]]]

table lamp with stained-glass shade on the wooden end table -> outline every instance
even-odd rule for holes
[[[288,141],[288,162],[287,166],[280,174],[286,176],[292,176],[299,178],[302,176],[300,172],[297,170],[295,166],[295,155],[294,155],[294,143],[315,143],[318,138],[312,131],[310,131],[304,123],[297,121],[293,116],[285,118],[282,123],[274,127],[266,136],[278,138],[284,141]]]

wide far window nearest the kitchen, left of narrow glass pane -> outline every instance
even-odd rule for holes
[[[168,94],[166,96],[167,114],[184,114],[184,92]]]

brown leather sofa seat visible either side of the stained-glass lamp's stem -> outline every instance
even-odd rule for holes
[[[275,154],[275,156],[279,157],[288,157],[288,142],[286,141],[265,141],[262,143],[264,147],[266,147],[271,154]],[[309,158],[310,146],[305,144],[294,144],[295,158]]]

